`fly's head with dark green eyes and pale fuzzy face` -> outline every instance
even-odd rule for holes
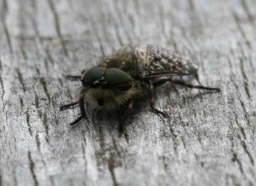
[[[117,68],[92,68],[84,72],[81,81],[89,87],[85,99],[93,107],[115,108],[131,97],[132,79]]]

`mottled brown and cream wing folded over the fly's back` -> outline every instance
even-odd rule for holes
[[[161,48],[157,45],[139,44],[134,54],[141,60],[146,72],[144,75],[158,74],[193,74],[197,77],[198,67],[189,58],[181,57],[178,53]]]

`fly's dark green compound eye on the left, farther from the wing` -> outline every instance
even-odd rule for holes
[[[82,77],[83,82],[92,83],[94,81],[100,80],[104,75],[106,68],[98,67],[93,68],[85,72],[84,76]]]

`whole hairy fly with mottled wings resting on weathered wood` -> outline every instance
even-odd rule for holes
[[[107,110],[118,110],[127,105],[120,120],[119,132],[124,130],[124,121],[133,107],[133,100],[149,96],[151,110],[163,117],[167,114],[154,106],[154,88],[166,82],[179,84],[189,88],[220,91],[201,85],[192,85],[177,78],[179,76],[197,74],[198,68],[190,60],[172,54],[157,45],[127,44],[116,53],[103,58],[100,63],[83,70],[80,79],[83,89],[78,101],[62,105],[61,110],[79,104],[81,115],[70,125],[75,126],[86,116],[85,101],[93,107],[104,107]]]

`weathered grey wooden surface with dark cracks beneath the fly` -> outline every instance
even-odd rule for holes
[[[0,185],[255,185],[255,1],[0,2]],[[89,107],[71,129],[79,108],[58,107],[81,85],[64,75],[130,42],[194,56],[222,91],[167,84],[169,119],[145,101],[126,138]]]

